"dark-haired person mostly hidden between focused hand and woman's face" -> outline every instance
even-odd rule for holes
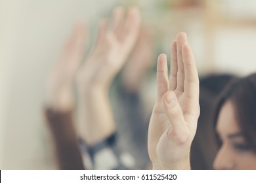
[[[213,115],[216,100],[226,85],[236,76],[230,74],[211,74],[200,77],[200,116],[196,135],[190,152],[191,169],[213,169],[213,161],[218,151],[213,138]],[[211,146],[209,146],[211,144]]]

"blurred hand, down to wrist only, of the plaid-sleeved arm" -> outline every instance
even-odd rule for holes
[[[108,29],[108,21],[102,20],[96,46],[79,71],[78,81],[82,83],[79,85],[86,90],[93,86],[105,87],[107,90],[127,61],[137,41],[139,29],[140,14],[137,8],[130,8],[126,18],[124,8],[116,8],[111,29]]]

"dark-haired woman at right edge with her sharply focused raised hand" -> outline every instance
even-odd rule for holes
[[[185,33],[171,44],[171,73],[167,59],[158,58],[158,96],[148,129],[153,169],[191,169],[190,148],[196,134],[199,78]],[[215,169],[256,169],[256,74],[232,82],[221,94],[215,118],[220,149]]]

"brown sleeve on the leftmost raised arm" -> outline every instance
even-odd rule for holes
[[[60,169],[84,169],[72,122],[72,112],[62,112],[49,107],[45,110],[47,122],[55,144]]]

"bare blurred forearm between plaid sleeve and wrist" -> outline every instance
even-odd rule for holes
[[[82,105],[85,112],[83,137],[88,145],[96,144],[116,131],[106,90],[91,87],[90,91],[83,95]]]

